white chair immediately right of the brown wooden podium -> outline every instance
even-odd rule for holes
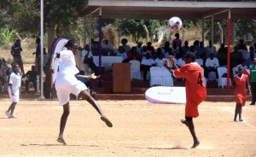
[[[142,80],[141,62],[137,60],[131,60],[129,62],[131,64],[131,80],[133,78]]]

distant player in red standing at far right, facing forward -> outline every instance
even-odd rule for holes
[[[235,117],[236,120],[237,114],[239,115],[239,121],[243,121],[241,118],[241,108],[245,106],[247,101],[247,87],[248,85],[248,76],[247,74],[243,74],[243,68],[241,66],[237,69],[237,74],[233,78],[233,85],[235,87],[235,96],[236,96],[236,109],[235,109]]]

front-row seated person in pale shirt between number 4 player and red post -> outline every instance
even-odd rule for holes
[[[214,57],[213,54],[211,53],[206,61],[206,68],[205,68],[206,77],[208,78],[208,73],[210,72],[217,73],[218,67],[219,67],[218,58]]]

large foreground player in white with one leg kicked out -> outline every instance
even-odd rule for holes
[[[67,123],[68,114],[70,113],[69,95],[71,93],[73,93],[74,95],[82,96],[84,100],[86,100],[94,108],[96,108],[96,111],[101,114],[101,119],[106,123],[106,125],[108,125],[108,127],[113,126],[110,120],[103,114],[102,109],[97,104],[96,100],[87,92],[87,87],[84,85],[84,83],[76,78],[96,78],[96,76],[94,74],[90,76],[75,76],[76,73],[79,73],[79,69],[76,67],[76,62],[74,60],[73,54],[76,53],[78,45],[73,40],[69,40],[65,47],[67,48],[67,50],[62,50],[56,55],[56,57],[59,58],[60,62],[58,72],[54,72],[57,73],[57,77],[55,79],[55,89],[57,91],[59,104],[63,106],[60,134],[57,141],[63,144],[66,144],[63,138],[63,132]]]

